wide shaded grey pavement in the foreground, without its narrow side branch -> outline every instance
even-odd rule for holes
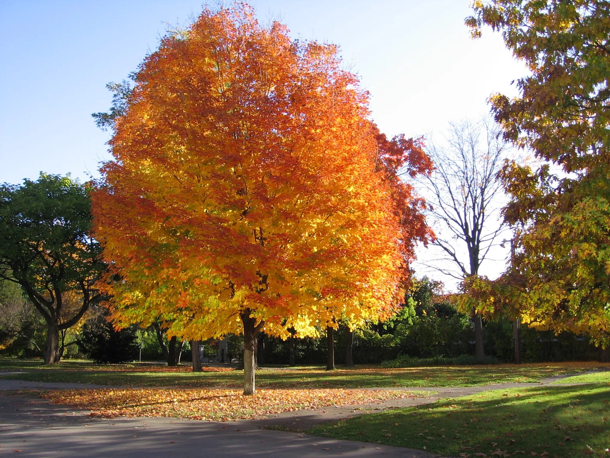
[[[30,395],[0,394],[0,456],[61,458],[433,458],[425,451],[266,431],[249,422],[91,418]]]

